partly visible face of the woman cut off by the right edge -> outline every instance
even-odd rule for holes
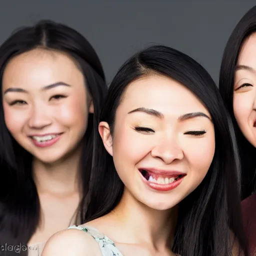
[[[242,133],[256,147],[256,33],[244,41],[238,56],[233,110]]]

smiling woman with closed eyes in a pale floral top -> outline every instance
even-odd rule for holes
[[[246,255],[232,126],[201,65],[166,46],[138,52],[98,129],[87,222],[42,256]]]

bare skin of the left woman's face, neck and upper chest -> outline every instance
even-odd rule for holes
[[[45,88],[54,83],[58,86]],[[42,48],[14,56],[3,72],[5,124],[13,138],[34,156],[32,171],[41,216],[28,244],[46,242],[53,233],[67,228],[77,208],[80,140],[88,113],[93,112],[85,83],[70,56]],[[19,91],[7,92],[11,88]],[[36,146],[29,137],[60,132],[60,139],[47,147]]]

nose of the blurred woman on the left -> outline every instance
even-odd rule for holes
[[[31,109],[28,126],[34,129],[42,129],[51,124],[51,118],[47,114],[47,108],[37,105]]]

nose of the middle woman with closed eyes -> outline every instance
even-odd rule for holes
[[[165,136],[158,140],[157,145],[151,150],[153,157],[161,159],[165,164],[169,164],[175,159],[183,159],[183,150],[178,144],[177,139]]]

